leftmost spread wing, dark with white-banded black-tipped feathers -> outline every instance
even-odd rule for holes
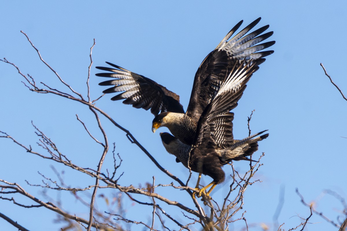
[[[151,108],[151,113],[158,115],[162,112],[179,112],[184,113],[183,106],[179,103],[179,96],[159,85],[153,80],[128,71],[120,66],[106,62],[115,67],[108,68],[97,66],[96,68],[109,73],[98,73],[97,76],[115,78],[99,83],[101,86],[113,86],[104,90],[104,93],[114,93],[124,91],[111,100],[120,100],[124,104],[132,104],[136,108]]]

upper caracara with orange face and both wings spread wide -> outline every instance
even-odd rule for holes
[[[195,74],[186,112],[179,103],[179,96],[174,92],[143,75],[109,62],[107,63],[113,68],[98,66],[96,68],[108,72],[96,75],[113,79],[101,82],[99,85],[112,86],[104,90],[104,93],[122,92],[112,97],[112,100],[125,99],[124,104],[131,104],[135,108],[151,109],[151,113],[155,115],[152,122],[153,132],[161,126],[166,126],[182,143],[192,145],[200,117],[206,106],[219,92],[228,70],[243,68],[247,64],[252,74],[265,61],[264,57],[273,53],[273,51],[262,50],[272,46],[274,41],[259,44],[273,34],[273,32],[262,34],[269,25],[248,33],[260,19],[256,19],[236,33],[243,23],[240,21],[205,57]]]

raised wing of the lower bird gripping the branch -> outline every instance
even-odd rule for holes
[[[194,145],[201,148],[223,148],[234,142],[230,110],[237,106],[252,73],[257,70],[255,63],[246,62],[234,65],[223,82],[215,98],[206,107],[198,122]]]

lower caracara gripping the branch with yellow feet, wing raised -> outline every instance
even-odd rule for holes
[[[230,110],[237,106],[246,83],[255,71],[251,62],[240,65],[230,71],[223,81],[219,91],[210,104],[203,111],[198,123],[193,145],[182,143],[169,133],[161,133],[161,139],[166,150],[174,154],[187,168],[199,172],[196,189],[198,189],[201,174],[212,177],[213,181],[199,189],[199,196],[207,188],[209,196],[212,189],[225,179],[222,166],[232,160],[247,159],[258,149],[258,141],[266,139],[269,134],[256,137],[265,131],[259,132],[243,140],[234,140],[232,133],[232,120],[234,113]],[[256,137],[255,139],[253,139]]]

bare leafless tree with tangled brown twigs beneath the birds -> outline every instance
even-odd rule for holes
[[[97,126],[99,127],[99,132],[102,133],[102,140],[96,139],[96,136],[88,130],[88,126],[90,126],[92,122],[85,123],[78,115],[76,115],[76,119],[82,124],[85,130],[84,132],[86,132],[91,137],[93,142],[102,147],[102,151],[100,152],[100,159],[97,169],[93,169],[92,167],[81,167],[78,165],[78,163],[73,162],[70,157],[61,152],[58,146],[50,139],[50,137],[46,136],[45,133],[41,131],[34,123],[32,123],[32,126],[38,139],[37,145],[35,147],[33,147],[32,145],[25,146],[23,142],[17,140],[15,137],[12,137],[7,131],[0,131],[0,137],[7,138],[8,140],[13,141],[16,145],[23,148],[25,152],[31,154],[33,157],[37,156],[50,162],[56,162],[56,167],[58,166],[60,168],[69,168],[86,176],[92,177],[95,180],[94,185],[88,185],[85,187],[69,187],[64,183],[64,179],[60,177],[59,170],[56,169],[53,169],[56,172],[55,179],[39,173],[42,177],[42,184],[39,185],[27,182],[27,185],[23,186],[17,183],[9,182],[6,179],[0,179],[0,199],[11,202],[13,206],[20,206],[25,208],[43,207],[56,212],[59,215],[58,220],[64,223],[61,230],[127,230],[128,228],[126,227],[128,227],[129,223],[141,225],[144,229],[148,230],[229,230],[230,224],[234,222],[243,222],[245,227],[244,230],[248,230],[248,224],[245,218],[246,211],[243,210],[244,193],[249,185],[252,185],[259,181],[257,179],[254,180],[253,178],[255,177],[258,169],[262,166],[260,161],[264,156],[264,153],[258,160],[250,162],[249,170],[245,172],[237,171],[232,163],[230,163],[229,167],[232,169],[232,181],[230,183],[229,190],[223,200],[215,201],[213,198],[204,196],[204,194],[202,198],[196,198],[193,196],[193,193],[196,191],[196,189],[188,186],[190,176],[188,177],[188,181],[184,182],[175,175],[171,174],[168,170],[164,169],[160,165],[160,163],[155,160],[155,158],[144,148],[142,144],[140,144],[136,140],[136,138],[126,128],[120,126],[102,109],[96,107],[95,102],[102,96],[96,99],[91,99],[91,89],[89,85],[90,70],[93,63],[92,50],[95,45],[95,41],[90,48],[90,65],[88,68],[89,71],[85,85],[87,88],[87,94],[83,95],[75,91],[74,88],[69,85],[69,83],[63,80],[63,78],[58,74],[57,71],[55,71],[48,63],[44,61],[39,50],[30,41],[29,37],[24,32],[22,33],[26,36],[29,43],[35,49],[36,53],[39,55],[40,60],[69,90],[65,92],[53,86],[48,86],[42,81],[37,82],[37,80],[35,80],[31,75],[23,74],[18,66],[16,66],[14,63],[11,63],[6,58],[2,59],[1,61],[13,66],[13,68],[18,71],[19,75],[22,78],[24,86],[28,90],[37,92],[39,94],[53,94],[59,97],[66,98],[68,100],[77,101],[78,103],[88,107],[90,113],[95,117],[94,123],[97,124]],[[251,116],[248,118],[248,128]],[[137,145],[150,159],[150,161],[152,161],[154,165],[159,170],[161,170],[162,174],[167,175],[172,179],[172,183],[158,183],[155,177],[153,177],[152,183],[144,184],[144,186],[133,186],[135,184],[132,184],[132,182],[129,182],[128,186],[119,184],[118,181],[122,176],[122,173],[120,173],[118,169],[122,164],[122,159],[121,156],[116,153],[115,144],[112,145],[112,143],[109,143],[108,136],[103,128],[104,120],[110,121],[121,132],[124,132],[130,143]],[[112,170],[103,168],[103,163],[107,154],[113,156]],[[49,198],[49,196],[45,198],[37,198],[37,196],[34,196],[31,193],[31,187],[41,187],[42,190],[44,190],[44,193],[47,195],[49,194],[49,192],[52,192],[52,190],[69,192],[70,196],[74,197],[85,206],[88,206],[89,214],[88,216],[81,217],[75,215],[75,213],[73,212],[66,212],[61,208],[60,204],[54,202],[54,200],[46,201],[46,198]],[[188,206],[185,203],[174,201],[168,197],[163,196],[158,192],[162,190],[158,190],[158,188],[162,188],[164,190],[170,188],[170,190],[176,190],[178,193],[185,193],[189,195],[189,198],[191,198],[192,202],[191,204],[193,206]],[[109,210],[103,212],[95,206],[95,202],[97,198],[100,197],[109,198],[108,196],[105,196],[105,194],[109,192],[107,191],[107,189],[112,189],[112,192],[114,193],[111,197],[115,198],[115,200],[111,203],[112,206],[109,207]],[[81,197],[81,193],[84,192],[90,192],[88,201]],[[139,195],[141,195],[141,197]],[[19,202],[17,200],[19,196],[24,196],[29,201],[31,201],[31,203],[26,204]],[[152,208],[151,220],[141,221],[127,219],[125,216],[124,208],[121,205],[121,200],[124,197],[127,197],[134,203],[149,206],[150,208]],[[305,204],[304,199],[301,199]],[[163,203],[159,205],[159,202]],[[174,215],[168,212],[167,205],[174,206],[179,211],[181,211],[179,219],[177,218],[177,214]],[[312,206],[309,207],[311,214],[306,219],[303,219],[303,222],[301,224],[289,230],[295,230],[299,228],[301,228],[301,230],[304,230],[305,225],[308,223],[308,220],[310,219],[312,214],[318,213],[312,208]],[[17,223],[15,221],[16,218],[8,217],[4,213],[4,211],[0,211],[0,217],[2,219],[8,221],[18,230],[28,230],[27,228]],[[322,216],[322,214],[319,215]],[[164,219],[164,217],[166,218]],[[168,225],[165,220],[171,221],[170,225]],[[340,224],[333,222],[331,223],[336,227],[341,227],[340,230],[342,230],[342,227],[346,226],[347,221],[345,220],[343,224],[342,222]],[[279,231],[282,230],[282,225],[279,226]]]

